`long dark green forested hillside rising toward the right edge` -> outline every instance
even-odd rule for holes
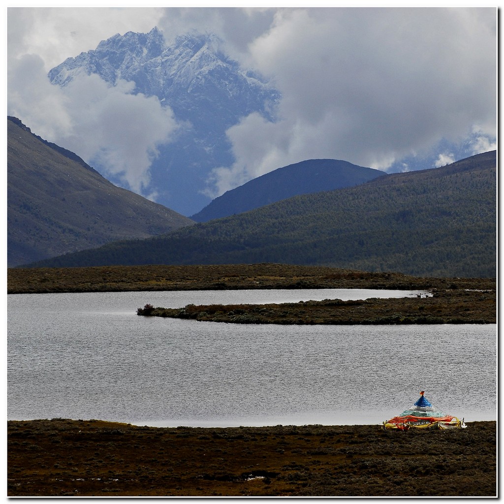
[[[260,262],[495,277],[495,151],[37,266]]]

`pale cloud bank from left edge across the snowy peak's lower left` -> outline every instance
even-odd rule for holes
[[[81,74],[65,88],[53,86],[37,55],[11,60],[8,75],[9,114],[91,166],[105,167],[105,176],[155,198],[148,188],[149,168],[157,145],[177,129],[169,107],[157,97],[132,94],[133,82],[108,86],[97,75]]]

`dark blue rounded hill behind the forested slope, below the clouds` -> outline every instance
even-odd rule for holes
[[[310,159],[270,171],[227,191],[201,212],[191,216],[197,222],[240,214],[301,194],[331,191],[358,185],[386,175],[336,159]]]

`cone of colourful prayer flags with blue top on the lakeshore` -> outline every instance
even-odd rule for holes
[[[464,419],[444,415],[442,411],[427,401],[424,392],[420,392],[420,399],[400,415],[383,422],[384,429],[408,430],[411,427],[420,429],[464,429]]]

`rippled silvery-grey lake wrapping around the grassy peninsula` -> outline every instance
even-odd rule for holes
[[[379,424],[425,397],[496,419],[496,325],[278,326],[138,317],[146,303],[404,297],[361,289],[11,294],[8,419]]]

